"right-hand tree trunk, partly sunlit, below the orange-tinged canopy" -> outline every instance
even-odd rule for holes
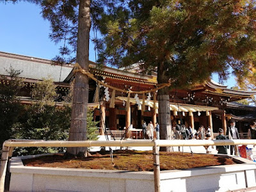
[[[165,74],[164,63],[159,63],[157,67],[157,83],[168,83],[168,76]],[[165,87],[158,91],[158,116],[160,126],[160,139],[172,140],[172,125],[170,113],[170,96],[169,88]],[[173,151],[172,147],[161,147],[161,151]]]

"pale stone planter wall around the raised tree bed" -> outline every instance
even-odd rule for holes
[[[26,157],[22,157],[26,158]],[[161,191],[228,191],[256,186],[256,163],[161,172]],[[13,157],[10,191],[154,191],[153,172],[23,166]]]

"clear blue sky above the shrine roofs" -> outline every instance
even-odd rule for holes
[[[49,39],[50,24],[42,19],[40,7],[27,2],[0,3],[0,51],[51,60],[58,54],[60,45]],[[89,59],[95,61],[93,44]],[[213,80],[218,82],[218,76]],[[234,77],[227,82],[235,86]]]

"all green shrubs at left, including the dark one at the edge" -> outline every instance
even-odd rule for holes
[[[25,140],[67,140],[70,128],[71,105],[55,106],[56,97],[52,79],[44,79],[33,88],[33,103],[21,105],[17,97],[22,88],[19,70],[8,70],[12,81],[0,86],[0,147],[10,138]],[[71,89],[72,90],[72,89]],[[10,94],[10,95],[9,95]],[[69,95],[69,99],[72,95]],[[87,137],[97,140],[98,122],[93,121],[93,110],[88,109]],[[64,152],[65,148],[15,148],[14,155]]]

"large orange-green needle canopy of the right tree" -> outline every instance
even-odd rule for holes
[[[157,67],[159,83],[180,88],[230,67],[240,79],[256,63],[255,1],[118,2],[96,22],[100,63]]]

